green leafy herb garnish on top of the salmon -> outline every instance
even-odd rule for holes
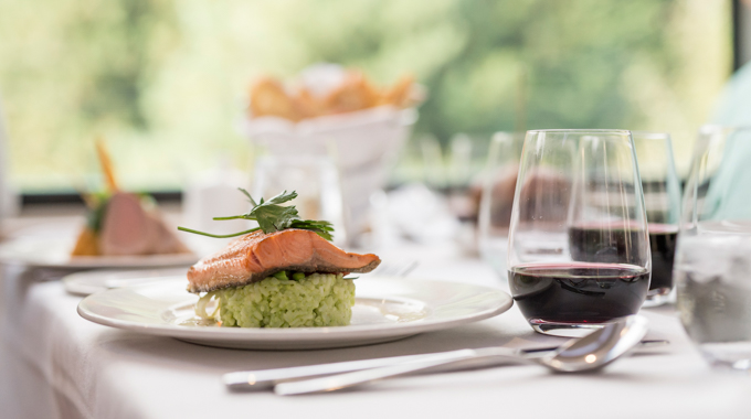
[[[263,230],[264,233],[274,233],[274,232],[279,232],[286,228],[300,228],[300,229],[307,229],[310,232],[315,232],[319,236],[324,237],[325,239],[331,241],[334,238],[332,233],[334,233],[334,226],[329,222],[324,222],[324,221],[313,221],[313,219],[300,219],[299,214],[297,213],[297,208],[295,208],[294,205],[289,206],[282,206],[279,204],[283,204],[285,202],[292,201],[297,197],[297,192],[292,191],[290,193],[287,193],[287,191],[282,192],[281,194],[272,197],[268,201],[264,201],[263,197],[261,201],[257,203],[255,200],[253,200],[253,196],[251,196],[247,191],[245,191],[242,187],[237,187],[240,192],[245,194],[247,196],[247,200],[253,204],[253,208],[242,215],[231,215],[228,217],[214,217],[213,219],[215,221],[226,221],[226,219],[251,219],[254,222],[258,223],[258,226],[255,228],[246,229],[244,232],[240,233],[234,233],[234,234],[226,234],[226,235],[216,235],[216,234],[210,234],[210,233],[204,233],[204,232],[198,232],[191,228],[186,228],[186,227],[178,227],[179,230],[181,232],[188,232],[188,233],[193,233],[193,234],[200,234],[202,236],[209,236],[209,237],[215,237],[215,238],[228,238],[228,237],[236,237],[236,236],[242,236],[244,234],[253,233],[258,229]]]

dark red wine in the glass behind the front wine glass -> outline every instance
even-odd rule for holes
[[[655,294],[667,293],[673,288],[673,259],[676,248],[676,227],[649,224],[652,247],[652,283]],[[571,258],[578,261],[600,264],[634,264],[641,261],[642,232],[601,226],[571,227],[569,248]]]

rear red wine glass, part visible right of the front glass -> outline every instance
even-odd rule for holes
[[[680,218],[680,183],[673,160],[669,133],[633,131],[632,136],[642,178],[652,250],[652,281],[644,305],[655,307],[665,303],[673,290],[673,261]]]

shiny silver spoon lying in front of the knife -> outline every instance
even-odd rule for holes
[[[499,361],[518,364],[538,364],[559,373],[594,370],[617,359],[636,346],[647,333],[647,320],[639,315],[616,319],[589,335],[572,340],[557,351],[541,357],[520,355],[507,347],[459,350],[426,356],[415,362],[377,367],[321,378],[281,383],[274,387],[279,396],[335,391],[389,377],[408,375],[425,369],[452,366],[486,366]]]

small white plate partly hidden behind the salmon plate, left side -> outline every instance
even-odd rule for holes
[[[75,296],[88,296],[113,288],[142,286],[165,280],[186,280],[187,268],[140,270],[86,270],[63,277],[65,291]]]

